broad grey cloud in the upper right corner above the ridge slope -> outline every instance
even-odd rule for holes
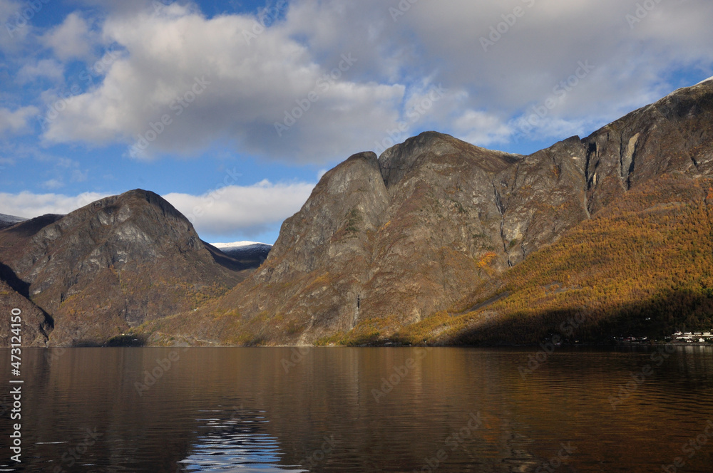
[[[517,114],[545,100],[580,61],[590,61],[595,66],[590,80],[583,80],[553,115],[609,120],[643,105],[641,100],[652,90],[660,92],[672,65],[706,61],[710,66],[713,60],[711,2],[662,2],[632,29],[626,15],[635,13],[637,3],[641,2],[419,2],[399,18],[396,28],[414,31],[422,49],[404,68],[428,64],[438,71],[434,80],[468,90],[468,103],[463,105],[474,110]],[[517,7],[523,16],[512,26],[500,25],[503,15]],[[500,38],[493,35],[495,43],[484,51],[481,38],[490,38],[491,27],[504,32]]]

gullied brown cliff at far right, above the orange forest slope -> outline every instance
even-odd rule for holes
[[[666,172],[708,175],[712,130],[713,80],[707,80],[594,132],[583,140],[590,212]]]

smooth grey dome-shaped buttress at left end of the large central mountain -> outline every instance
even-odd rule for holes
[[[282,331],[297,343],[309,341],[305,332],[350,330],[359,318],[374,239],[388,206],[373,152],[354,155],[327,172],[302,209],[282,224],[267,261],[242,291],[228,293],[217,303],[215,311],[252,327],[228,330],[224,336],[249,343],[270,338],[267,332]],[[255,328],[262,322],[265,330]],[[200,335],[215,337],[224,327],[210,323],[205,330]]]

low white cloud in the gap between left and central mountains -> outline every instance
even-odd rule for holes
[[[193,222],[198,234],[255,236],[299,211],[314,184],[230,185],[202,195],[172,193],[163,197]]]

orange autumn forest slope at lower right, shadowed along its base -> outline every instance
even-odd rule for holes
[[[612,343],[713,327],[713,178],[635,185],[555,244],[481,284],[468,309],[399,330],[411,343]]]

